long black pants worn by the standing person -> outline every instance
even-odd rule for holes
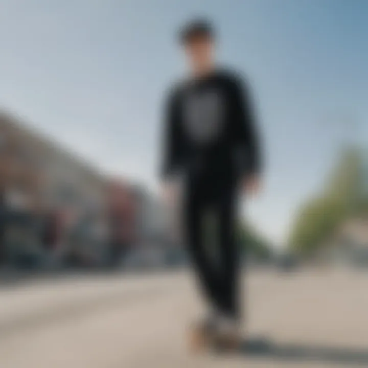
[[[216,188],[213,180],[191,182],[184,196],[186,243],[199,285],[209,303],[231,318],[239,318],[239,252],[236,238],[236,190]],[[210,215],[211,226],[208,216]],[[211,233],[211,239],[208,236]],[[210,244],[208,244],[210,242]],[[211,253],[215,252],[217,260]]]

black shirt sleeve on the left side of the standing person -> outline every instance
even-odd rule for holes
[[[175,178],[182,169],[183,134],[180,128],[180,111],[177,93],[171,93],[164,111],[163,158],[160,176]]]

